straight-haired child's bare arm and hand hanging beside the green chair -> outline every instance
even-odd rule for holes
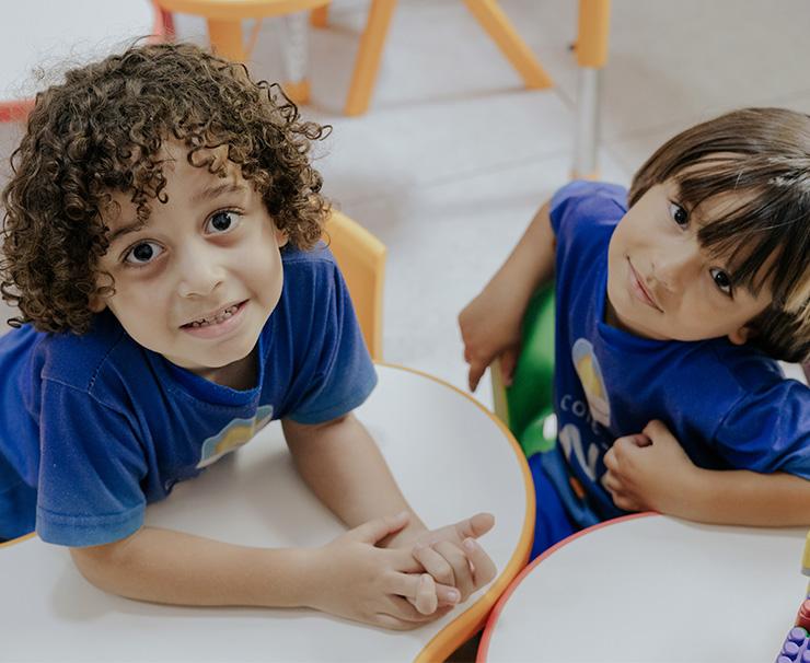
[[[523,341],[522,319],[532,294],[554,277],[556,239],[548,210],[540,208],[506,263],[459,315],[470,388],[500,356],[504,384],[511,384]]]

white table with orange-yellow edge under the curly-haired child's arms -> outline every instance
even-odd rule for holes
[[[0,549],[0,661],[443,660],[525,563],[533,488],[513,438],[477,402],[420,373],[378,373],[357,416],[426,524],[495,514],[481,539],[499,571],[488,588],[429,626],[393,632],[309,609],[128,601],[91,586],[67,549],[33,537]],[[149,507],[148,524],[259,546],[317,546],[344,532],[293,469],[277,423]]]

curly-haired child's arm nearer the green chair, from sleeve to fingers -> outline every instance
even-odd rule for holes
[[[466,601],[495,578],[496,568],[474,539],[494,524],[489,514],[428,531],[396,486],[385,460],[363,426],[347,415],[317,426],[284,420],[285,437],[301,475],[321,501],[349,526],[406,512],[408,524],[381,545],[412,551],[438,582],[439,604]],[[460,595],[452,601],[448,590]]]

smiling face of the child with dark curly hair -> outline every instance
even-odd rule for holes
[[[227,162],[218,177],[176,143],[164,152],[169,201],[152,200],[146,226],[136,230],[127,196],[113,196],[120,212],[104,216],[112,242],[101,267],[115,293],[94,309],[106,305],[137,342],[178,367],[233,381],[253,371],[251,351],[278,304],[287,237],[239,166]]]

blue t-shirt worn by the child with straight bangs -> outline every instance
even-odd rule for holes
[[[810,389],[728,338],[653,340],[603,321],[608,245],[626,189],[577,181],[551,203],[556,251],[557,445],[543,467],[581,526],[622,515],[602,486],[620,437],[663,421],[707,469],[784,470],[810,479]]]

